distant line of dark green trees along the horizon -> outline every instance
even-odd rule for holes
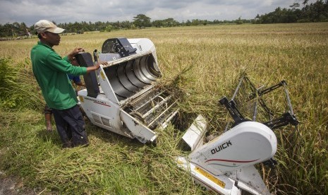
[[[182,23],[174,20],[174,18],[166,18],[164,20],[153,20],[145,14],[138,14],[133,21],[116,21],[116,22],[85,22],[80,23],[58,23],[61,28],[66,29],[65,33],[83,33],[87,31],[110,32],[111,30],[121,29],[137,29],[147,27],[174,27],[174,26],[190,26],[190,25],[215,25],[215,24],[243,24],[243,23],[305,23],[305,22],[328,22],[328,0],[317,0],[308,4],[308,0],[304,0],[302,6],[294,3],[290,8],[276,8],[273,12],[263,15],[257,14],[254,19],[236,20],[186,20]],[[20,37],[35,34],[34,25],[28,27],[25,23],[6,23],[0,24],[0,37]]]

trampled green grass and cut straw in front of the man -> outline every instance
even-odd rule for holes
[[[177,167],[175,157],[180,152],[172,144],[177,138],[172,128],[161,134],[154,147],[89,125],[90,146],[61,150],[59,135],[47,133],[43,124],[31,122],[28,117],[41,118],[40,113],[16,114],[16,122],[0,131],[0,147],[5,148],[0,169],[9,174],[18,173],[37,191],[54,191],[55,194],[206,194],[193,185],[187,172]]]

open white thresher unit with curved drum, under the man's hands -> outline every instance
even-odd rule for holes
[[[78,54],[77,59],[80,66],[94,64],[90,53]],[[181,94],[159,84],[162,72],[152,41],[108,39],[101,53],[95,50],[94,59],[109,65],[87,73],[86,89],[78,92],[90,122],[141,143],[156,141],[154,129],[164,129],[174,119]]]

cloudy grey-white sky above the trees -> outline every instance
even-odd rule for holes
[[[253,19],[293,3],[303,6],[302,0],[0,0],[0,23],[31,26],[42,19],[56,23],[133,21],[138,14],[151,21]]]

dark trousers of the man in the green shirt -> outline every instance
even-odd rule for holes
[[[66,110],[52,109],[63,148],[89,144],[85,122],[78,105]]]

